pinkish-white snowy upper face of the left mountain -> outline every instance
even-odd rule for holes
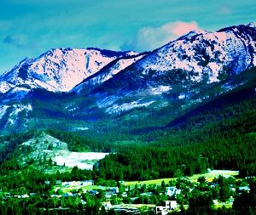
[[[68,92],[86,77],[95,74],[113,59],[130,55],[98,48],[56,48],[36,59],[24,59],[0,77],[0,92],[26,85],[52,92]]]

